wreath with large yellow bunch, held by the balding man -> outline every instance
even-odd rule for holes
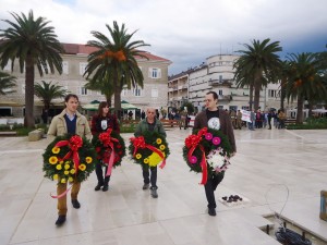
[[[157,132],[147,132],[143,136],[130,138],[129,150],[135,163],[159,168],[166,164],[170,150],[164,136]]]

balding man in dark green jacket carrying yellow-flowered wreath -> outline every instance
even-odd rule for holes
[[[166,132],[164,130],[164,126],[161,122],[156,118],[156,110],[154,108],[147,108],[146,110],[146,118],[137,124],[135,128],[135,137],[143,136],[146,132],[157,132],[162,137],[166,138]],[[157,167],[149,167],[148,164],[142,164],[142,171],[143,171],[143,180],[144,185],[143,189],[148,189],[149,184],[150,186],[150,194],[154,198],[158,197],[157,193]],[[149,176],[150,171],[150,176]]]

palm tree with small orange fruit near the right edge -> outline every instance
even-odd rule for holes
[[[296,123],[303,123],[304,100],[312,103],[327,96],[325,77],[320,75],[323,62],[318,53],[291,53],[289,60],[288,99],[298,100]]]

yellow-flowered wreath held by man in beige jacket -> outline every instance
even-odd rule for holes
[[[85,181],[97,161],[92,144],[78,135],[57,136],[43,157],[45,176],[63,184]]]

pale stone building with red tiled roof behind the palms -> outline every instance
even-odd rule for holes
[[[93,100],[104,101],[105,96],[100,91],[88,90],[84,86],[87,83],[83,74],[87,65],[87,57],[95,48],[86,45],[62,44],[64,53],[62,57],[62,74],[55,72],[53,74],[44,74],[39,76],[37,69],[35,70],[35,84],[45,82],[52,82],[63,86],[70,93],[76,94],[80,98],[80,103],[86,105]],[[154,107],[160,109],[167,106],[168,96],[168,66],[171,61],[145,52],[147,59],[136,58],[137,64],[141,68],[144,76],[144,87],[135,87],[132,89],[124,88],[121,94],[121,99],[133,103],[137,108],[145,109],[146,107]],[[13,88],[15,93],[1,96],[0,98],[0,115],[10,115],[21,118],[24,114],[25,103],[25,73],[19,71],[19,62],[16,60],[13,72],[11,72],[11,63],[9,62],[3,69],[4,72],[17,77],[16,87]],[[36,96],[35,100],[35,117],[39,118],[44,108],[43,102]],[[1,105],[1,101],[4,101]],[[13,103],[11,106],[10,103]],[[112,97],[113,106],[113,97]],[[56,99],[52,101],[52,109],[61,110],[64,107],[63,99]],[[4,114],[3,114],[4,112]]]

